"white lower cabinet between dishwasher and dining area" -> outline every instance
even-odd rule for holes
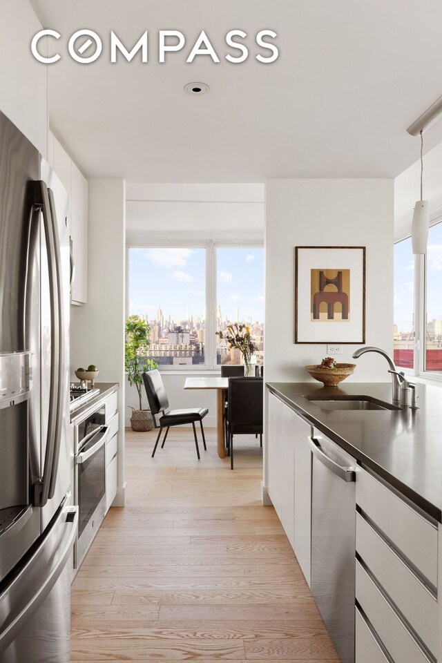
[[[311,427],[269,394],[269,497],[310,584]]]

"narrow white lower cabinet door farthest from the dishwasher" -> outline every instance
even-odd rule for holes
[[[281,520],[281,454],[282,454],[282,407],[283,403],[269,394],[269,425],[267,439],[268,490],[279,519]]]

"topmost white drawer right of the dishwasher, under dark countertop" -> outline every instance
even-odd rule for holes
[[[356,503],[436,587],[436,527],[363,468],[356,475]]]

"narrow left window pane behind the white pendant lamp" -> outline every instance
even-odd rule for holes
[[[414,367],[414,256],[412,240],[394,245],[394,363]]]

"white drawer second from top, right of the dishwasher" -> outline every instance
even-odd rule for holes
[[[436,654],[436,599],[360,514],[356,515],[356,552],[425,645]]]

